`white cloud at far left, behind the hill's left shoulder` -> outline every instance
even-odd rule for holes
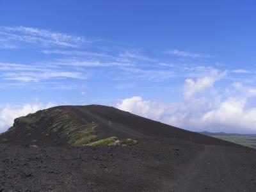
[[[40,109],[51,108],[54,104],[24,104],[24,106],[6,106],[0,111],[0,132],[6,131],[12,126],[13,120],[20,116],[28,115],[29,113],[35,113]]]

